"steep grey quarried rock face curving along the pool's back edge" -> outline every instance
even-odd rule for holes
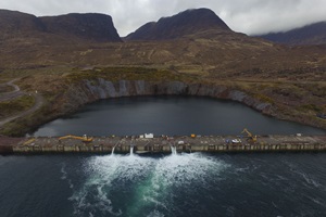
[[[226,87],[204,86],[201,84],[185,84],[180,81],[149,82],[143,80],[120,80],[112,82],[98,78],[97,80],[83,80],[72,86],[65,98],[72,104],[64,105],[65,113],[78,106],[100,99],[133,97],[133,95],[200,95],[216,99],[234,100],[251,106],[262,113],[268,114],[272,105],[260,102],[239,90]]]

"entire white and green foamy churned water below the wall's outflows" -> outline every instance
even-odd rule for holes
[[[128,155],[96,156],[86,162],[87,179],[70,200],[76,216],[164,216],[160,210],[168,210],[174,189],[205,184],[212,173],[216,176],[226,167],[201,154],[154,158],[130,150]]]

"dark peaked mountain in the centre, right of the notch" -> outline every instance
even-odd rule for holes
[[[230,28],[211,10],[195,9],[158,22],[150,22],[129,34],[125,40],[168,40],[205,30],[230,33]]]

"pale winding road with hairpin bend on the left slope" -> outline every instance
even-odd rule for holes
[[[2,93],[0,94],[0,102],[2,101],[9,101],[9,100],[13,100],[17,97],[21,97],[21,95],[25,95],[25,94],[29,94],[29,95],[33,95],[34,99],[35,99],[35,104],[27,111],[24,111],[17,115],[14,115],[14,116],[11,116],[11,117],[7,117],[4,119],[1,119],[0,120],[0,128],[9,123],[9,122],[12,122],[18,117],[23,117],[23,116],[26,116],[26,115],[29,115],[34,112],[36,112],[37,110],[39,110],[42,104],[45,103],[45,99],[42,98],[42,95],[38,92],[35,92],[35,93],[27,93],[27,92],[24,92],[24,91],[21,91],[20,87],[17,85],[14,85],[15,81],[17,81],[20,78],[16,78],[16,79],[13,79],[11,81],[8,81],[8,82],[4,82],[4,84],[0,84],[0,87],[5,87],[5,86],[11,86],[14,88],[13,91],[11,92],[5,92],[5,93]]]

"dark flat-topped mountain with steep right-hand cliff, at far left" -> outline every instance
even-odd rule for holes
[[[90,40],[99,42],[122,41],[111,16],[104,14],[66,14],[60,16],[37,17],[30,14],[0,10],[0,39],[24,40],[55,39]]]

